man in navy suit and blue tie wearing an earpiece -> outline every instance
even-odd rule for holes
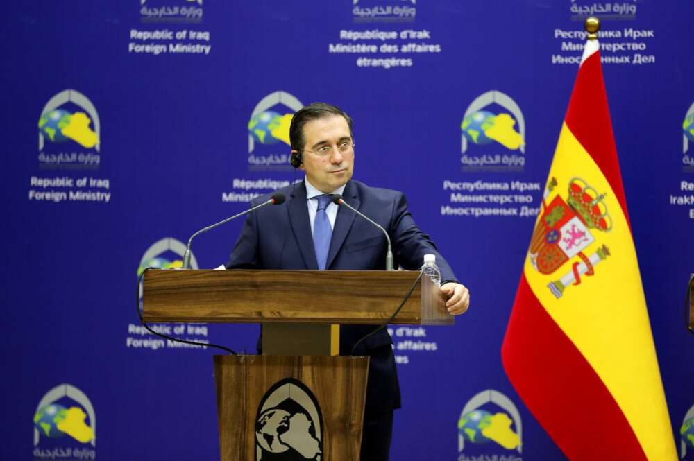
[[[326,195],[344,200],[387,230],[396,265],[407,270],[421,267],[425,254],[435,254],[441,270],[441,290],[448,296],[452,315],[470,304],[467,288],[455,279],[450,266],[427,234],[414,223],[403,193],[377,189],[352,180],[354,168],[353,123],[339,108],[313,103],[294,114],[289,129],[291,164],[305,171],[305,181],[285,187],[287,201],[248,215],[227,268],[384,270],[386,238],[375,226]],[[253,205],[269,195],[253,201]],[[340,328],[340,354],[353,346],[373,326]],[[366,390],[362,461],[387,460],[393,427],[393,410],[400,408],[400,388],[392,340],[387,331],[370,336],[355,354],[371,357]]]

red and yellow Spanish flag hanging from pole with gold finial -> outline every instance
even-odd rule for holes
[[[676,460],[598,40],[583,53],[502,345],[570,460]]]

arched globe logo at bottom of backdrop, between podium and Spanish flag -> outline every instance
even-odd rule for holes
[[[470,459],[475,460],[477,456],[496,459],[509,455],[509,451],[520,454],[522,431],[521,415],[511,399],[496,390],[484,390],[470,399],[460,412],[458,453],[470,455]],[[509,459],[522,460],[510,456]]]

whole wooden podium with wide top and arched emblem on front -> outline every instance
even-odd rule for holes
[[[359,460],[368,357],[339,356],[339,324],[385,322],[418,272],[148,270],[144,322],[262,323],[262,356],[214,356],[222,461]],[[452,325],[427,277],[392,321]],[[295,458],[287,458],[295,459]],[[301,459],[301,458],[298,458]]]

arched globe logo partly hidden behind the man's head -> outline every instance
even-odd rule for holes
[[[291,170],[289,125],[303,104],[287,92],[272,92],[255,105],[248,120],[248,169]]]

